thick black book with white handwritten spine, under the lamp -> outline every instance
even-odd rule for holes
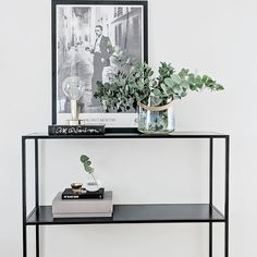
[[[49,125],[48,126],[49,135],[103,135],[105,125]]]

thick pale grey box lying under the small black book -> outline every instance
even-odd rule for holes
[[[52,200],[52,213],[101,213],[112,212],[112,191],[105,193],[103,199],[62,199],[59,192]]]

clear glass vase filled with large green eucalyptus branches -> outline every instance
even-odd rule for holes
[[[188,91],[205,88],[222,90],[223,86],[207,75],[195,75],[189,70],[175,72],[171,64],[161,62],[159,75],[146,63],[125,61],[125,69],[119,70],[111,82],[98,82],[98,97],[106,111],[118,112],[138,108],[138,131],[163,134],[174,131],[173,101],[185,97]]]

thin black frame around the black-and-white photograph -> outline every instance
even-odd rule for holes
[[[51,38],[52,38],[52,124],[59,124],[58,123],[58,105],[57,105],[57,90],[58,90],[58,69],[57,69],[57,54],[58,54],[58,44],[57,40],[57,9],[59,5],[78,5],[78,7],[106,7],[106,5],[113,5],[113,8],[120,8],[120,7],[140,7],[142,8],[142,23],[143,23],[143,33],[142,33],[142,61],[148,62],[148,1],[109,1],[109,0],[52,0],[51,4]],[[125,114],[125,113],[124,113]],[[122,113],[121,113],[122,115]],[[137,131],[136,126],[108,126],[107,132],[109,133],[127,133],[127,132],[135,132]]]

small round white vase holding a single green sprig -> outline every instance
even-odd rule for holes
[[[96,180],[95,175],[94,175],[94,168],[91,167],[91,161],[89,159],[89,157],[82,155],[81,156],[81,162],[83,163],[83,167],[86,171],[86,173],[88,174],[87,178],[87,183],[86,183],[86,189],[87,191],[98,191],[100,188],[100,183]]]

